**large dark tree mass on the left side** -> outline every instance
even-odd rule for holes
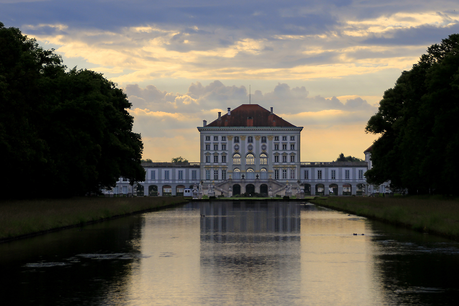
[[[9,195],[84,195],[145,179],[127,96],[100,73],[66,68],[0,22],[2,173],[18,192]]]

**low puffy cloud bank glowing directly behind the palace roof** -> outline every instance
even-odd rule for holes
[[[133,104],[130,112],[135,118],[135,131],[144,139],[145,156],[162,161],[170,159],[171,152],[180,155],[184,148],[187,148],[189,160],[199,161],[196,127],[202,125],[202,120],[212,122],[217,119],[218,111],[225,113],[228,107],[234,109],[249,102],[249,93],[244,86],[225,86],[220,81],[206,86],[191,83],[185,94],[168,93],[153,85],[141,88],[137,84],[127,85],[124,91]],[[266,109],[274,107],[277,115],[303,126],[303,135],[307,134],[308,139],[302,142],[303,156],[309,160],[329,161],[330,156],[341,152],[337,150],[345,148],[349,154],[362,156],[366,149],[363,146],[369,146],[374,138],[363,134],[363,128],[377,107],[360,97],[343,101],[337,97],[309,97],[304,87],[291,89],[289,85],[279,83],[271,92],[255,91],[251,102]],[[356,140],[364,143],[356,146]],[[324,144],[311,151],[312,143]],[[336,146],[340,149],[335,149]]]

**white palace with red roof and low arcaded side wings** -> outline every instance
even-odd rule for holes
[[[304,195],[364,195],[368,189],[364,173],[371,166],[371,147],[364,162],[301,161],[303,127],[285,121],[257,105],[228,108],[223,116],[207,124],[200,133],[200,162],[143,162],[144,182],[134,186],[137,195],[191,195],[194,184],[209,185],[215,195],[259,193]],[[120,178],[115,194],[132,191]]]

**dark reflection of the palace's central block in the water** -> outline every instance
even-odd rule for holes
[[[207,299],[242,305],[300,292],[299,204],[210,202],[202,203],[201,214],[200,279]],[[227,293],[226,286],[241,294]]]

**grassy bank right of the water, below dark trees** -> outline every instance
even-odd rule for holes
[[[358,216],[459,239],[459,199],[441,196],[326,197],[309,200]]]

